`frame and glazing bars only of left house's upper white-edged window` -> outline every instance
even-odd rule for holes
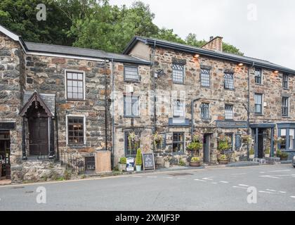
[[[68,78],[68,75],[73,77],[74,74],[77,74],[77,79]],[[78,79],[79,75],[82,75],[82,79]],[[66,97],[69,101],[84,101],[85,100],[85,84],[84,84],[84,76],[85,73],[81,71],[65,71],[65,86],[67,88]],[[69,86],[69,82],[72,82],[72,85]],[[77,86],[73,85],[73,82],[77,82]],[[82,83],[82,86],[79,86],[79,82]],[[72,89],[72,91],[69,91],[69,88]],[[77,92],[75,92],[73,89],[77,88]],[[79,88],[82,89],[82,91],[79,91]],[[72,98],[69,97],[69,94],[72,94]],[[77,98],[74,98],[74,94],[77,94]],[[82,94],[81,98],[78,98],[79,94]]]

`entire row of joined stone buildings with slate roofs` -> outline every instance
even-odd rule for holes
[[[116,166],[137,148],[178,164],[196,134],[207,164],[218,162],[222,137],[231,161],[251,148],[256,158],[268,148],[291,158],[295,71],[222,50],[221,37],[202,48],[134,37],[123,54],[107,53],[30,43],[0,25],[1,175],[91,171],[96,153],[110,152]]]

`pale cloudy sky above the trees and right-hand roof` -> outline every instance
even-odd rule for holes
[[[141,0],[150,5],[158,27],[185,39],[221,36],[245,56],[295,69],[294,0]],[[110,0],[131,6],[133,0]]]

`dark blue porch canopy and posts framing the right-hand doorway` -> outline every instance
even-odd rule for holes
[[[275,125],[274,123],[256,123],[256,124],[250,124],[250,128],[255,130],[255,158],[258,157],[258,130],[259,129],[270,129],[270,157],[274,156],[274,136],[275,136]]]

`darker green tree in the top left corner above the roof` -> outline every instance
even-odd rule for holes
[[[22,36],[26,41],[71,45],[67,38],[70,20],[66,18],[53,0],[44,0],[46,20],[38,21],[39,0],[1,0],[0,21],[12,32]]]

